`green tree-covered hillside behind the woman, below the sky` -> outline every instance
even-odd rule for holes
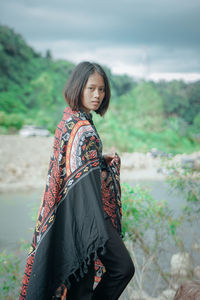
[[[54,60],[49,50],[43,57],[19,34],[0,26],[0,132],[32,124],[53,133],[66,106],[62,91],[73,68],[68,61]],[[104,68],[111,105],[105,118],[94,118],[107,148],[158,148],[174,154],[199,148],[199,82],[135,82]]]

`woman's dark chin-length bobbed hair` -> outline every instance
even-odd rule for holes
[[[84,87],[89,76],[95,71],[103,77],[105,84],[105,96],[100,107],[95,111],[97,114],[103,116],[107,111],[110,102],[110,86],[106,73],[102,67],[96,63],[84,61],[74,68],[69,76],[66,87],[64,88],[64,97],[72,110],[80,110]]]

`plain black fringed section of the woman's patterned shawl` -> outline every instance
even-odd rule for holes
[[[46,247],[36,253],[26,299],[51,299],[69,274],[77,279],[87,273],[88,263],[97,256],[96,249],[99,249],[98,254],[105,251],[101,248],[106,242],[107,231],[98,190],[99,178],[99,169],[87,173],[59,205],[52,232],[44,241]],[[65,283],[70,286],[70,280]]]

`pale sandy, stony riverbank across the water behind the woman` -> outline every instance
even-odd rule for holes
[[[43,189],[48,171],[53,137],[0,135],[0,192]],[[121,181],[164,180],[161,153],[122,153]],[[176,155],[174,162],[200,162],[200,151]]]

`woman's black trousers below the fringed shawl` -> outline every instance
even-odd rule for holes
[[[73,282],[66,300],[116,300],[134,275],[132,259],[110,219],[105,221],[109,239],[106,252],[99,258],[106,267],[100,283],[93,291],[93,263],[80,282]]]

